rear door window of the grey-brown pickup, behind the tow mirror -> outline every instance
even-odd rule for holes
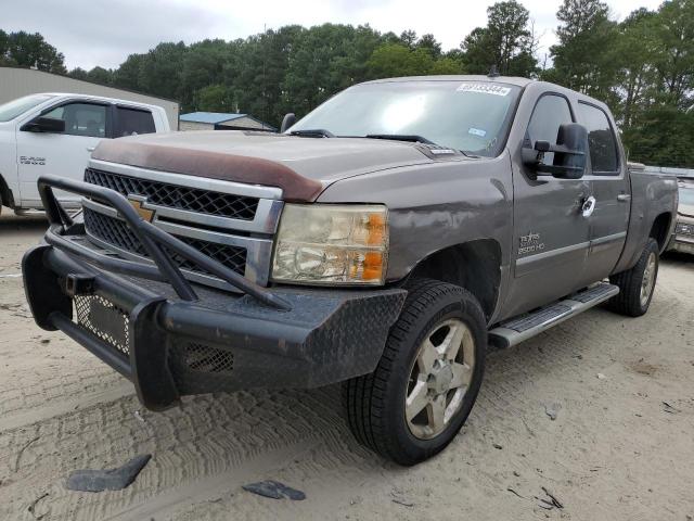
[[[588,147],[593,174],[619,174],[617,139],[607,114],[596,106],[581,102],[578,103],[578,111],[581,123],[588,129]]]

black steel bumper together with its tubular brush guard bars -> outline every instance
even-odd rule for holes
[[[37,325],[62,330],[131,380],[153,410],[184,394],[314,387],[370,372],[404,302],[401,289],[262,288],[143,220],[111,189],[55,176],[38,186],[50,225],[22,264]],[[115,208],[152,262],[91,247],[53,189]],[[171,253],[242,294],[191,284]]]

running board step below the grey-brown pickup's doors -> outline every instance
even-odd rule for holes
[[[612,298],[617,293],[619,293],[619,288],[616,285],[599,282],[583,291],[567,296],[563,301],[499,323],[489,331],[489,343],[499,348],[519,344],[524,340],[528,340]]]

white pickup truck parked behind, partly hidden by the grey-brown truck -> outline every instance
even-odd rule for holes
[[[85,94],[41,93],[0,105],[0,205],[41,209],[39,176],[81,180],[102,139],[170,130],[163,107]],[[57,193],[66,207],[79,198]]]

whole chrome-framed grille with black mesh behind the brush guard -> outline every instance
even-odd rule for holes
[[[265,285],[270,276],[273,234],[280,221],[282,189],[208,179],[90,160],[85,180],[119,192],[160,230],[247,279]],[[85,227],[98,246],[140,260],[146,251],[112,206],[82,199]],[[195,282],[234,287],[181,256],[167,252]]]

